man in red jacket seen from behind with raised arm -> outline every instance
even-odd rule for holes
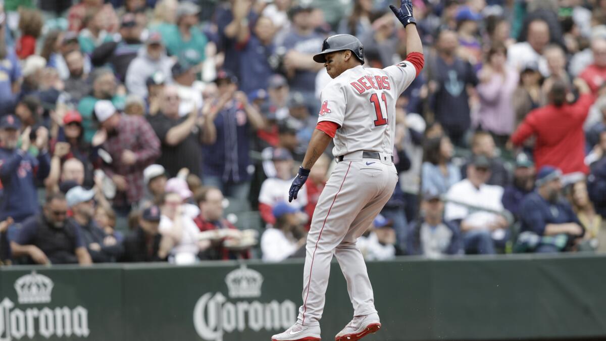
[[[511,142],[516,146],[521,146],[532,135],[536,137],[534,162],[537,169],[549,164],[564,174],[589,172],[584,162],[583,123],[594,98],[582,79],[575,79],[574,86],[579,90],[579,99],[569,104],[566,102],[567,86],[561,82],[554,83],[549,92],[550,103],[528,113],[511,135]]]

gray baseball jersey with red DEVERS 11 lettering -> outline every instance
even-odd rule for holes
[[[322,90],[318,123],[339,124],[333,155],[368,150],[393,153],[396,100],[416,76],[410,61],[375,69],[345,70]]]

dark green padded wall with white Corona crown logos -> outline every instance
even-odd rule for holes
[[[582,255],[368,263],[383,323],[368,340],[606,339],[605,269]],[[301,288],[300,261],[4,267],[0,341],[269,340],[295,320]],[[351,314],[333,263],[324,339]]]

